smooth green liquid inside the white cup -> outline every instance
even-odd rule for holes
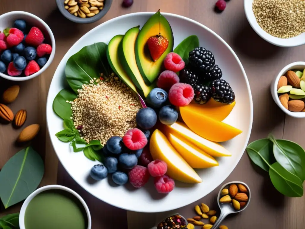
[[[87,229],[84,206],[71,193],[48,190],[35,196],[24,216],[26,229]]]

